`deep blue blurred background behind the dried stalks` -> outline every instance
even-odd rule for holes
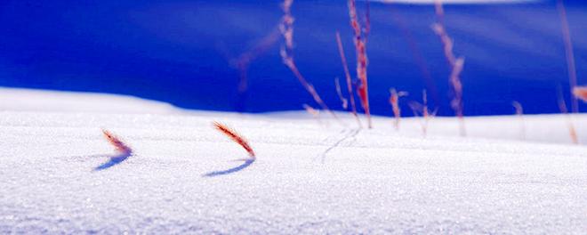
[[[0,86],[123,93],[188,109],[246,112],[318,107],[279,56],[281,37],[249,66],[239,95],[240,54],[276,30],[280,1],[2,1]],[[359,12],[364,10],[359,2]],[[587,4],[566,1],[579,85],[587,75]],[[342,109],[334,77],[344,75],[334,34],[341,32],[354,76],[346,1],[296,1],[295,58],[332,109]],[[567,62],[554,1],[445,5],[462,71],[465,115],[559,112],[569,99]],[[449,69],[430,29],[433,5],[371,3],[367,44],[372,112],[391,115],[389,88],[420,101],[429,90],[439,115],[453,115]],[[344,87],[344,86],[343,86]],[[346,89],[343,89],[346,94]],[[410,114],[406,102],[405,114]],[[585,109],[582,104],[581,109]]]

